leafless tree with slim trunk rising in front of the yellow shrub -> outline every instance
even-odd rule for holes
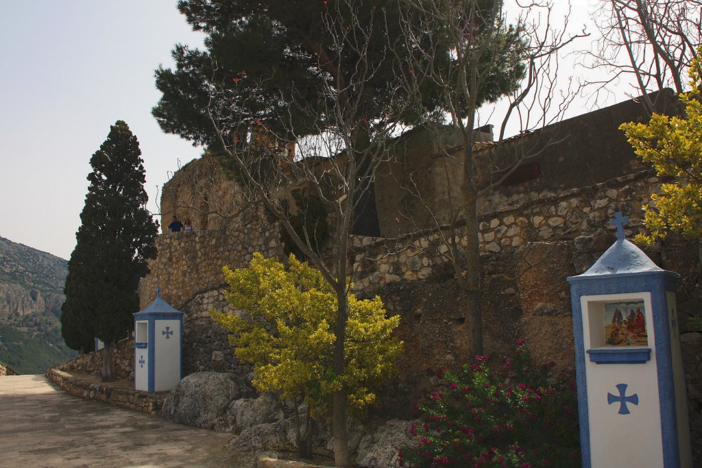
[[[310,100],[309,90],[289,83],[277,95],[279,107],[285,112],[274,122],[270,118],[263,122],[255,113],[232,112],[230,108],[234,102],[241,109],[260,107],[260,101],[266,99],[264,93],[270,93],[269,77],[247,76],[243,93],[228,86],[230,83],[220,86],[215,79],[208,82],[211,99],[207,113],[239,185],[249,199],[263,203],[336,292],[333,373],[338,389],[333,395],[332,416],[335,464],[340,467],[350,466],[343,386],[350,293],[349,235],[364,209],[366,194],[372,190],[376,168],[392,154],[392,145],[397,142],[392,135],[416,114],[397,77],[388,76],[383,85],[379,100],[382,108],[373,102],[378,102],[378,89],[371,88],[378,82],[377,75],[407,66],[399,61],[402,54],[392,51],[397,44],[386,41],[379,47],[373,42],[378,39],[377,30],[387,27],[385,12],[373,8],[362,21],[359,8],[363,7],[355,1],[329,4],[321,25],[329,42],[320,44],[310,39],[322,76],[317,98]],[[368,51],[371,47],[372,57]],[[349,56],[356,58],[351,67]],[[217,65],[213,67],[216,76]],[[312,128],[300,130],[296,126],[300,120],[312,122]],[[297,229],[293,225],[292,216],[304,211],[303,206],[294,206],[291,192],[296,188],[306,189],[326,207],[331,229],[324,246],[317,241],[317,220],[303,222]]]

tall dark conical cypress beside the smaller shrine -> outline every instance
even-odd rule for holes
[[[105,343],[102,380],[112,380],[112,351],[133,328],[137,288],[156,257],[157,224],[145,208],[145,171],[136,137],[124,121],[110,127],[91,158],[88,194],[66,282],[67,323]],[[65,335],[69,335],[67,330]]]

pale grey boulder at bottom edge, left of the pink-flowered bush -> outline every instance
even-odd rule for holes
[[[410,428],[409,421],[390,420],[385,423],[385,426],[373,434],[372,441],[361,442],[357,464],[362,467],[399,467],[397,454],[400,448],[411,443]]]

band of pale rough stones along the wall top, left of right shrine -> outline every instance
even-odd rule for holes
[[[629,217],[625,232],[630,238],[642,229],[641,206],[659,187],[652,171],[643,171],[486,213],[478,225],[480,254],[485,258],[531,242],[598,236],[607,232],[607,220],[617,211]],[[614,227],[611,230],[614,232]],[[444,275],[451,261],[452,240],[460,253],[468,243],[465,222],[455,232],[441,226],[397,239],[352,236],[349,267],[355,290]],[[607,247],[609,244],[602,250]],[[589,267],[585,267],[588,259],[581,260],[578,274]],[[589,260],[591,265],[594,259]]]

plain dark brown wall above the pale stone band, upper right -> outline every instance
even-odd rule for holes
[[[656,102],[657,112],[682,115],[680,103],[670,90],[651,93],[650,98]],[[478,164],[483,161],[490,165],[479,171],[484,184],[496,182],[503,175],[500,168],[509,167],[520,156],[532,155],[523,162],[527,166],[536,163],[538,176],[529,174],[530,171],[519,174],[521,171],[517,170],[514,175],[521,177],[493,187],[477,202],[478,213],[554,196],[573,188],[592,187],[650,169],[637,158],[625,134],[619,130],[621,123],[643,123],[649,119],[640,102],[628,99],[496,145],[485,145],[475,154]],[[518,183],[519,180],[522,183]]]

